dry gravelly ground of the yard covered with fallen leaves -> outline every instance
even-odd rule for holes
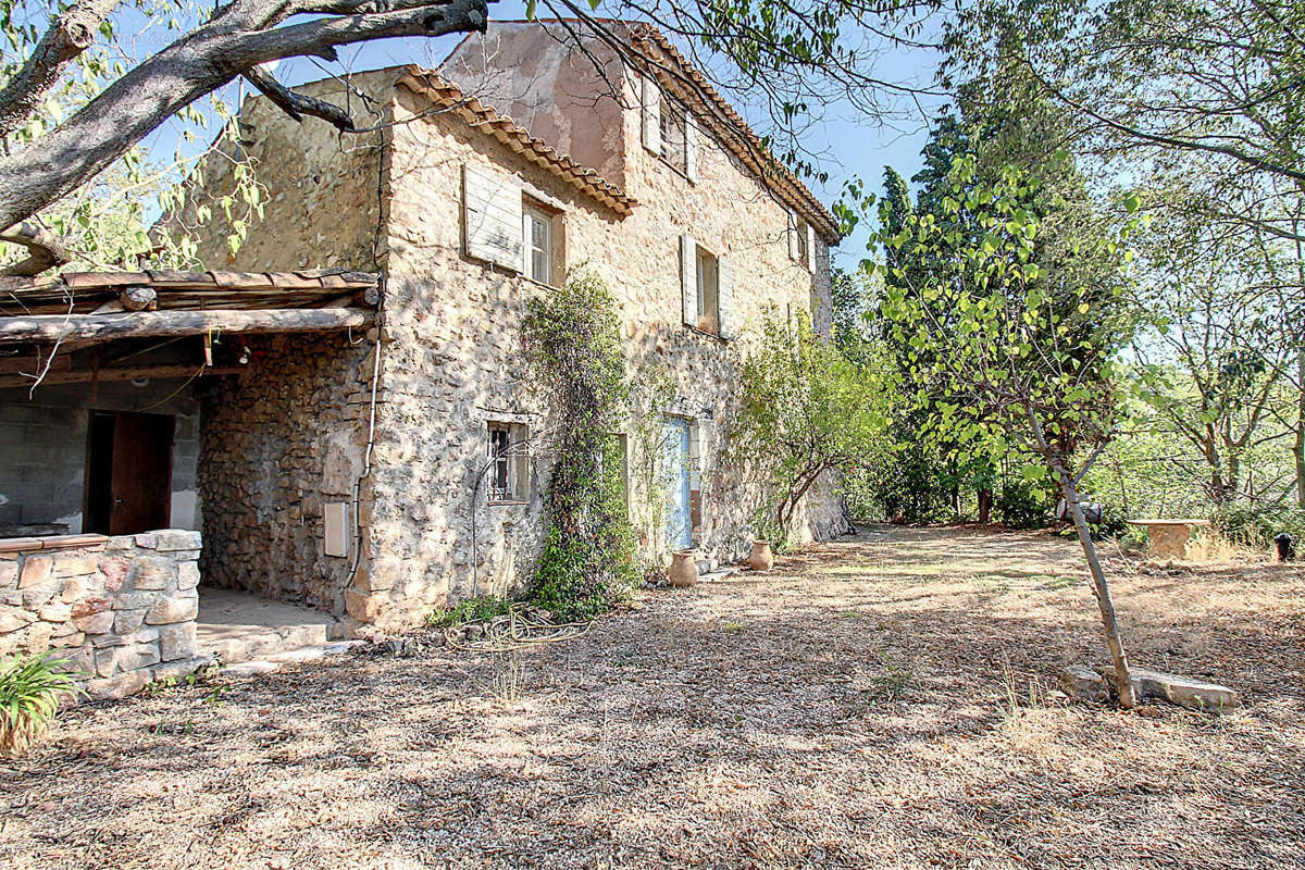
[[[877,530],[515,657],[72,711],[0,867],[1305,866],[1305,573],[1112,562],[1134,660],[1244,710],[1049,691],[1105,661],[1071,543]]]

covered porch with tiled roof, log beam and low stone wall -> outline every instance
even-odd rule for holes
[[[337,635],[330,603],[296,601],[201,533],[230,549],[221,520],[248,507],[207,473],[230,427],[206,424],[275,365],[270,343],[347,344],[376,303],[376,275],[342,270],[0,278],[0,653],[64,650],[90,689],[120,695]],[[245,464],[282,473],[271,455]],[[299,505],[260,507],[270,527]]]

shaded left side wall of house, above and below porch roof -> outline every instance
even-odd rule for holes
[[[346,106],[359,127],[384,124],[397,73],[364,73],[299,90]],[[266,99],[241,107],[241,138],[265,189],[236,254],[221,220],[196,231],[213,269],[252,271],[342,267],[381,270],[381,155],[386,137],[299,124]],[[230,163],[206,164],[209,189],[231,188]],[[215,210],[217,211],[217,210]],[[223,378],[204,402],[200,498],[206,583],[248,590],[346,614],[348,556],[326,556],[325,505],[350,505],[363,471],[371,402],[372,335],[247,339],[249,372]],[[365,485],[365,484],[364,484]],[[365,494],[365,492],[364,492]]]

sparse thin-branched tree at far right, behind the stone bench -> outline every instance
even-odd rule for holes
[[[1210,224],[1199,207],[1184,207],[1181,188],[1147,198],[1165,202],[1167,214],[1138,243],[1144,269],[1135,292],[1148,329],[1134,352],[1148,364],[1147,400],[1191,445],[1206,496],[1221,507],[1249,496],[1246,460],[1258,445],[1276,441],[1287,459],[1288,376],[1301,327],[1254,231]],[[1295,475],[1279,464],[1276,493],[1285,496]],[[1272,485],[1258,471],[1261,489]]]

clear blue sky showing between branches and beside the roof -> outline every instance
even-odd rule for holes
[[[599,7],[599,12],[603,9]],[[518,0],[502,0],[491,7],[491,20],[519,20],[525,17],[525,4]],[[364,70],[397,64],[420,64],[436,67],[453,50],[459,37],[438,39],[388,39],[346,47],[341,51],[339,64],[326,64],[317,59],[295,57],[282,61],[277,77],[287,85],[324,78],[341,69]],[[903,82],[915,87],[928,87],[938,57],[925,50],[889,50],[877,61],[874,73],[893,82]],[[235,86],[224,97],[236,99]],[[736,108],[750,124],[763,130],[766,113],[762,107],[741,103],[735,95],[727,94]],[[920,147],[927,136],[927,116],[937,112],[940,100],[902,100],[899,111],[891,120],[868,119],[846,100],[830,103],[814,112],[812,127],[804,133],[804,150],[816,155],[820,171],[829,173],[825,184],[812,179],[808,185],[826,203],[834,202],[851,177],[861,177],[868,189],[880,190],[883,167],[895,167],[910,179],[921,166]],[[172,154],[176,147],[176,133],[164,127],[155,132],[147,147],[158,149],[161,157]],[[198,147],[198,142],[196,147]],[[853,266],[865,253],[865,233],[863,227],[852,237],[844,239],[834,252],[835,265]]]

